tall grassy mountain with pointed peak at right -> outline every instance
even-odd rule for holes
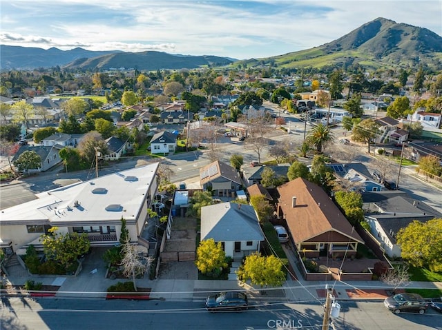
[[[238,61],[247,68],[270,63],[280,68],[348,67],[442,69],[442,37],[413,25],[378,18],[330,43],[266,59]]]

